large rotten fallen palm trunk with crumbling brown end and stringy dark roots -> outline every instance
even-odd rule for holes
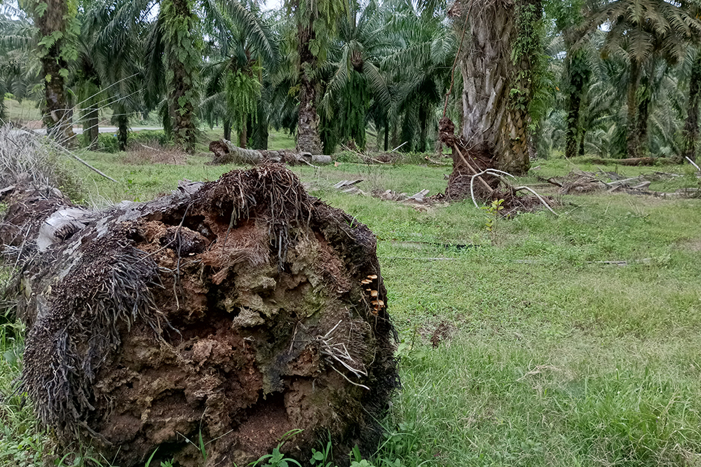
[[[120,466],[243,465],[296,428],[300,459],[374,449],[398,380],[372,232],[280,164],[188,188],[103,212],[6,192],[41,421]]]

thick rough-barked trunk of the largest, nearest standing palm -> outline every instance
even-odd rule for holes
[[[531,6],[540,14],[539,1],[526,4],[519,8]],[[529,72],[533,57],[524,54],[514,64],[513,47],[519,34],[531,32],[517,28],[513,1],[472,0],[465,5],[470,8],[470,34],[460,64],[465,149],[494,159],[501,170],[522,174],[530,165],[532,85],[517,77]]]

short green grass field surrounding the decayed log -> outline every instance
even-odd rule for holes
[[[97,205],[236,168],[206,165],[203,154],[184,165],[84,156],[118,180],[76,166],[83,199]],[[598,170],[585,162],[536,161],[522,182]],[[701,200],[563,196],[558,216],[499,219],[490,233],[471,201],[415,209],[332,189],[361,178],[367,192],[435,194],[449,166],[293,170],[379,239],[403,388],[375,466],[701,465]],[[619,170],[686,174],[653,183],[662,191],[699,184],[686,166]],[[21,367],[12,326],[0,332],[0,465],[39,466],[50,436],[20,395],[8,396]]]

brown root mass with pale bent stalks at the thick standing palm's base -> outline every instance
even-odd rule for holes
[[[503,215],[531,211],[545,207],[550,212],[554,200],[548,196],[540,196],[529,187],[515,187],[507,177],[513,177],[507,172],[497,170],[496,159],[489,151],[477,151],[470,148],[461,137],[455,135],[455,125],[447,117],[438,124],[438,139],[453,151],[453,172],[448,180],[448,187],[442,199],[461,201],[472,199],[477,205],[479,201],[503,200]],[[531,195],[519,194],[528,191]]]

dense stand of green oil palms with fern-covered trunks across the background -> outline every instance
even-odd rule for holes
[[[695,159],[700,0],[0,0],[4,96],[41,101],[94,147],[109,107],[122,148],[156,112],[175,144],[198,125],[266,149],[437,149],[447,115],[465,144],[527,170],[562,150]],[[457,59],[456,59],[457,55]],[[454,62],[456,66],[454,66]],[[452,90],[449,93],[449,89]]]

